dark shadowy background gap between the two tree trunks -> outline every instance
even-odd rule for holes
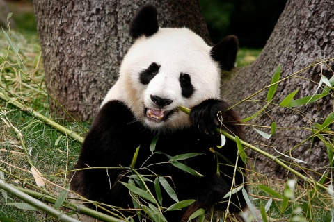
[[[200,0],[211,40],[237,35],[240,46],[263,48],[287,0]]]

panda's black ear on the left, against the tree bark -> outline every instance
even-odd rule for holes
[[[132,20],[130,36],[134,39],[141,37],[141,35],[150,37],[157,33],[158,29],[157,9],[151,4],[146,4]]]

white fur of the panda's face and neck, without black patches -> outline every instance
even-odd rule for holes
[[[210,56],[210,50],[211,47],[188,28],[159,28],[151,37],[139,37],[123,59],[118,81],[102,105],[113,99],[124,101],[139,121],[157,130],[188,126],[189,117],[180,110],[168,121],[159,123],[148,120],[143,110],[156,108],[151,94],[173,99],[166,110],[175,110],[180,105],[192,108],[204,99],[219,98],[220,69]],[[159,74],[148,85],[142,85],[139,74],[152,62],[160,65]],[[195,92],[189,99],[181,94],[180,73],[191,76]]]

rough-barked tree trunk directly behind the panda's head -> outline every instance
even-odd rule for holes
[[[159,10],[161,26],[188,26],[209,42],[198,0],[152,3]],[[131,44],[129,22],[143,1],[34,0],[33,4],[51,110],[63,115],[62,105],[75,119],[86,121],[118,78]]]

